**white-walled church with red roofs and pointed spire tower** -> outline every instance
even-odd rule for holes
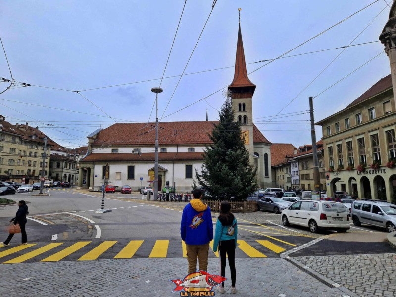
[[[241,24],[239,24],[234,79],[228,87],[235,121],[242,125],[250,163],[257,168],[260,188],[272,185],[271,142],[253,123],[252,97],[256,85],[247,76]],[[166,182],[176,192],[191,192],[195,170],[201,172],[205,144],[218,121],[161,122],[158,125],[158,191]],[[109,185],[133,190],[153,186],[155,159],[154,123],[116,123],[87,136],[87,155],[80,161],[78,187],[101,189],[108,164]],[[197,182],[197,181],[196,181]]]

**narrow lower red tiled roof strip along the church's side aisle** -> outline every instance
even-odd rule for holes
[[[155,153],[142,153],[141,155],[132,153],[91,153],[81,162],[139,162],[154,161]],[[158,154],[158,161],[185,161],[202,160],[203,152],[161,152]],[[81,166],[81,165],[80,165]]]

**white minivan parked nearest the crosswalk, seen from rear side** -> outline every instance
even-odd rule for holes
[[[300,200],[282,211],[282,223],[309,227],[312,233],[319,229],[347,232],[350,228],[347,208],[342,203],[323,200]]]

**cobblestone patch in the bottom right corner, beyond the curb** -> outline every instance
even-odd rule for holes
[[[293,259],[360,296],[396,296],[396,253]]]

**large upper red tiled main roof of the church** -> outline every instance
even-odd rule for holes
[[[163,122],[158,124],[160,145],[209,144],[209,133],[218,121]],[[271,144],[257,127],[253,125],[254,143]],[[117,123],[100,131],[94,146],[100,145],[155,145],[155,123]]]

